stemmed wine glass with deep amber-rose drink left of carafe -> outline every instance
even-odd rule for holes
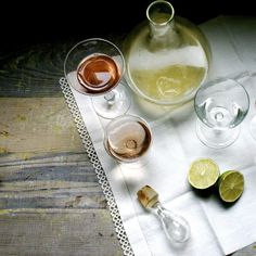
[[[78,42],[64,61],[68,84],[78,92],[92,95],[95,112],[105,118],[123,115],[130,106],[127,89],[120,82],[124,72],[121,51],[102,38]]]

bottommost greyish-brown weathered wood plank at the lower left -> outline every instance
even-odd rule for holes
[[[119,256],[108,210],[0,214],[0,255]]]

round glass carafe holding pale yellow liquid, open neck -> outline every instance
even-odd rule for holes
[[[146,17],[124,44],[126,80],[151,102],[184,103],[206,79],[210,56],[207,40],[197,26],[175,17],[167,1],[152,2]]]

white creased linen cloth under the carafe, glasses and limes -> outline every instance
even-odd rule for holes
[[[213,53],[209,78],[256,72],[256,18],[217,17],[201,25]],[[193,102],[179,108],[157,106],[137,98],[128,113],[142,116],[153,132],[153,146],[139,169],[115,162],[103,146],[104,127],[110,121],[93,111],[90,98],[76,92],[80,110],[98,156],[111,183],[125,230],[136,255],[225,255],[256,242],[256,141],[248,124],[256,114],[256,77],[241,78],[251,98],[251,110],[242,123],[239,139],[227,149],[213,150],[195,135]],[[238,169],[245,178],[242,197],[225,207],[212,195],[201,197],[191,190],[187,174],[196,158],[213,158],[221,172]],[[175,246],[165,236],[161,221],[137,200],[143,185],[153,187],[163,205],[182,215],[191,226],[191,239]]]

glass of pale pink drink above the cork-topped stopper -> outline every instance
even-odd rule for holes
[[[138,162],[146,155],[151,144],[151,128],[139,116],[118,116],[112,119],[105,128],[106,152],[120,163]]]

